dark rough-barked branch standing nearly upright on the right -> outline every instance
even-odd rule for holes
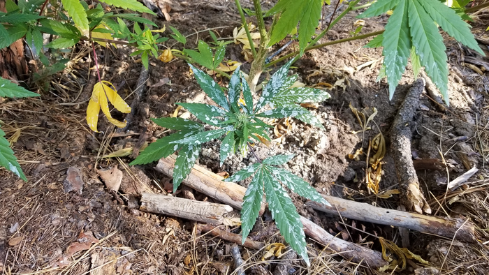
[[[419,214],[430,214],[431,209],[419,188],[418,176],[414,170],[411,154],[411,127],[419,97],[423,93],[423,79],[414,82],[407,92],[391,128],[391,151],[395,162],[395,172],[402,191],[401,200],[408,210]]]

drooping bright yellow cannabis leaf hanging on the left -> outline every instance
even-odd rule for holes
[[[112,86],[110,88],[108,85]],[[114,124],[119,128],[126,127],[126,121],[121,122],[117,119],[113,119],[110,114],[108,101],[112,103],[115,109],[119,110],[119,112],[129,113],[131,112],[131,107],[127,105],[126,101],[122,99],[117,91],[115,90],[114,85],[108,81],[97,82],[94,85],[94,90],[92,91],[92,97],[88,103],[87,107],[87,124],[92,129],[92,131],[97,132],[97,123],[98,123],[98,112],[102,109],[105,117],[110,121],[110,123]]]

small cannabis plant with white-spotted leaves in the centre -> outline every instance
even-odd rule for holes
[[[226,96],[223,89],[207,73],[189,65],[200,87],[219,106],[177,103],[194,114],[203,124],[178,117],[152,119],[159,126],[177,132],[149,144],[149,147],[130,164],[150,163],[178,151],[173,170],[173,191],[176,191],[182,180],[189,175],[198,158],[200,148],[205,142],[214,139],[222,140],[220,151],[222,165],[224,160],[231,154],[235,154],[236,151],[240,151],[245,156],[253,140],[256,142],[270,140],[268,128],[272,126],[266,124],[262,119],[295,117],[314,126],[322,127],[314,115],[297,103],[325,101],[330,96],[326,91],[320,89],[291,88],[297,78],[296,75],[287,76],[291,63],[292,61],[289,61],[277,70],[277,73],[264,85],[261,97],[256,103],[253,102],[248,82],[240,73],[239,68],[231,76]],[[240,100],[241,94],[243,101]],[[209,126],[206,127],[205,124]],[[329,204],[306,181],[289,171],[276,167],[284,165],[291,158],[293,155],[272,156],[263,161],[257,158],[258,163],[236,172],[226,181],[242,181],[254,176],[242,205],[243,242],[258,217],[263,191],[265,191],[268,207],[277,228],[291,247],[309,265],[300,216],[284,186],[302,197]]]

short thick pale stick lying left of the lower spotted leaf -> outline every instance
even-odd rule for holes
[[[224,216],[233,211],[233,207],[229,205],[199,202],[198,200],[187,200],[161,194],[143,193],[140,202],[141,207],[139,209],[141,211],[177,216],[213,225],[224,223]]]

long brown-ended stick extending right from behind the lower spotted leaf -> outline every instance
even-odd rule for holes
[[[476,241],[474,224],[462,218],[443,218],[374,207],[367,203],[344,200],[329,195],[323,197],[332,207],[317,202],[306,202],[310,207],[328,214],[341,215],[358,221],[367,221],[382,225],[400,226],[419,232],[439,235],[461,241]]]

